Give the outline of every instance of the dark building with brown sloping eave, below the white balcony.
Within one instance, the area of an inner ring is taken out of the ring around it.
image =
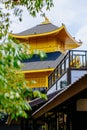
[[[33,130],[87,129],[87,74],[57,92],[37,109],[32,118]],[[42,124],[40,124],[42,122]],[[36,129],[37,128],[37,129]]]

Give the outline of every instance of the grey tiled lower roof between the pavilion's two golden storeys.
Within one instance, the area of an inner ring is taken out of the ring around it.
[[[55,52],[52,54],[53,56],[54,55],[56,56]],[[55,68],[65,55],[61,54],[60,56],[58,55],[56,58],[54,56],[54,59],[53,56],[48,57],[49,60],[25,62],[22,70],[39,70],[39,69]]]

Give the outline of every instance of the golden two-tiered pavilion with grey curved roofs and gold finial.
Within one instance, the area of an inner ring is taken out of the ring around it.
[[[31,59],[24,61],[23,73],[26,79],[36,82],[29,86],[39,90],[48,88],[48,76],[61,59],[59,56],[81,45],[69,34],[64,24],[57,27],[47,17],[41,24],[17,34],[10,34],[10,36],[21,43],[29,44],[31,50],[38,49],[47,54],[47,58],[43,60],[34,55]]]

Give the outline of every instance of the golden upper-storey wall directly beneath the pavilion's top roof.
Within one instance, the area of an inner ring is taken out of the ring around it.
[[[61,51],[64,52],[65,45],[63,42],[60,42],[57,37],[38,37],[38,38],[30,38],[30,39],[23,39],[23,43],[29,44],[31,50],[41,50],[44,52],[54,52],[54,51]]]

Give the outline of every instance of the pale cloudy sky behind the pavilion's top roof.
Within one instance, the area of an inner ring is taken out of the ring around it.
[[[64,23],[68,32],[83,42],[81,48],[87,49],[87,0],[54,0],[54,7],[45,13],[54,25],[60,27]],[[24,10],[22,22],[14,20],[11,29],[14,33],[21,32],[43,21],[40,15],[33,18]]]

